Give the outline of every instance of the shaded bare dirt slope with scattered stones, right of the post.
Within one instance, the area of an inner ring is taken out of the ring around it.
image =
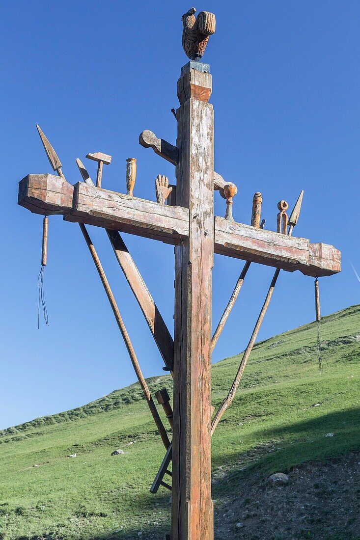
[[[360,539],[360,453],[278,472],[287,484],[258,478],[216,502],[217,540]]]

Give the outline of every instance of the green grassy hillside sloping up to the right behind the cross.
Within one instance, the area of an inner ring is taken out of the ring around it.
[[[316,323],[255,346],[212,440],[216,516],[229,497],[271,473],[360,449],[360,306],[324,318],[320,332],[321,376]],[[238,362],[234,356],[213,367],[215,407]],[[149,386],[170,392],[170,376]],[[111,456],[117,448],[125,454]],[[149,493],[163,455],[136,384],[0,431],[0,538],[163,538],[169,492]]]

